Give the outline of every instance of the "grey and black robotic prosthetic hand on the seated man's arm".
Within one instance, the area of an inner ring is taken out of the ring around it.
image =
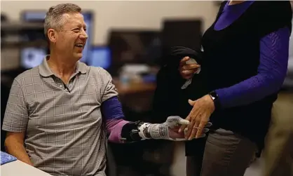
[[[178,133],[180,126],[188,125],[189,121],[182,119],[179,116],[169,116],[164,123],[144,123],[142,121],[126,123],[121,131],[121,140],[125,142],[135,142],[139,140],[174,140],[183,141],[184,134]],[[203,135],[207,133],[207,127],[212,123],[207,123],[206,128],[203,130]],[[187,132],[187,128],[184,133]]]

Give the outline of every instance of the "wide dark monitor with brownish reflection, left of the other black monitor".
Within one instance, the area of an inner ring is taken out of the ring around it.
[[[161,57],[161,32],[157,30],[114,29],[109,34],[111,74],[125,64],[157,65]]]

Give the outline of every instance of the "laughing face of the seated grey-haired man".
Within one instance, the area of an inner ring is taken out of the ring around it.
[[[66,22],[62,29],[56,32],[56,50],[58,53],[66,55],[65,57],[72,57],[76,61],[80,60],[88,39],[86,22],[84,22],[81,13],[66,13],[63,18]]]

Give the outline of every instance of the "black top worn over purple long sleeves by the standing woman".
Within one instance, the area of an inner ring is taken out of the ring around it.
[[[222,8],[217,15],[217,22]],[[255,1],[229,27],[214,30],[215,22],[203,35],[203,65],[200,79],[203,94],[233,86],[257,74],[259,42],[262,37],[282,27],[291,29],[292,11],[289,1]],[[196,86],[196,83],[194,83]],[[198,84],[197,84],[198,85]],[[271,108],[278,93],[251,104],[220,109],[210,117],[214,128],[232,130],[264,146],[271,120]],[[192,154],[197,142],[186,142],[186,153]]]

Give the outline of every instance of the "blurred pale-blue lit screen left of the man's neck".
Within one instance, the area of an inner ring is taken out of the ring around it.
[[[23,69],[31,69],[40,65],[46,53],[46,48],[22,48],[20,51],[20,67]]]

